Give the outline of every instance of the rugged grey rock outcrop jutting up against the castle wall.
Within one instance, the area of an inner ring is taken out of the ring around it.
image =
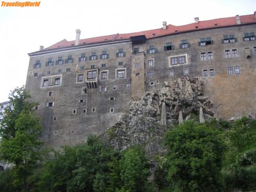
[[[166,81],[160,91],[146,91],[139,101],[130,101],[120,120],[101,137],[118,150],[141,144],[149,156],[163,154],[164,132],[178,124],[178,118],[199,120],[200,107],[206,120],[214,115],[213,103],[203,93],[200,78]]]

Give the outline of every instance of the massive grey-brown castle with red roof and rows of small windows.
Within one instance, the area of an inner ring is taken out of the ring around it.
[[[76,144],[115,124],[164,81],[202,77],[217,118],[256,115],[256,12],[76,40],[29,53],[26,89],[46,145]]]

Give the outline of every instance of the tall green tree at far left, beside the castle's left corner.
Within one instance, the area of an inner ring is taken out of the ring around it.
[[[30,96],[25,87],[16,88],[9,95],[10,103],[5,110],[5,116],[0,128],[0,159],[13,163],[14,185],[27,191],[27,178],[32,174],[32,168],[40,160],[38,148],[42,142],[41,124],[29,102]]]

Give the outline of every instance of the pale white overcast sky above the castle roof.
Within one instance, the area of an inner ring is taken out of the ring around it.
[[[254,11],[255,0],[41,0],[39,7],[0,7],[0,102],[26,83],[27,53],[64,38],[75,40],[76,29],[82,39],[157,29],[163,21],[179,26],[195,22],[194,17],[208,20]]]

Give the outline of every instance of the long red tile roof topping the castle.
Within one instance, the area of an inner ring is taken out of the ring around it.
[[[256,23],[254,14],[242,15],[240,16],[240,20],[241,20],[241,24]],[[226,27],[226,26],[234,26],[234,25],[237,25],[236,16],[226,17],[226,18],[217,18],[212,20],[202,20],[202,21],[199,21],[198,23],[192,23],[192,24],[183,25],[183,26],[167,25],[166,29],[160,28],[160,29],[153,29],[153,30],[135,32],[135,33],[113,34],[113,35],[105,35],[100,37],[92,37],[87,39],[80,39],[79,45],[93,44],[96,42],[110,41],[110,40],[129,39],[131,36],[137,36],[137,35],[145,35],[146,38],[148,39],[153,37],[170,35],[174,33],[186,32],[186,31],[196,31],[196,30],[202,30],[202,29],[210,29],[210,28]],[[75,44],[75,40],[67,41],[66,39],[63,39],[46,49],[69,47],[69,46],[73,46],[74,44]]]

